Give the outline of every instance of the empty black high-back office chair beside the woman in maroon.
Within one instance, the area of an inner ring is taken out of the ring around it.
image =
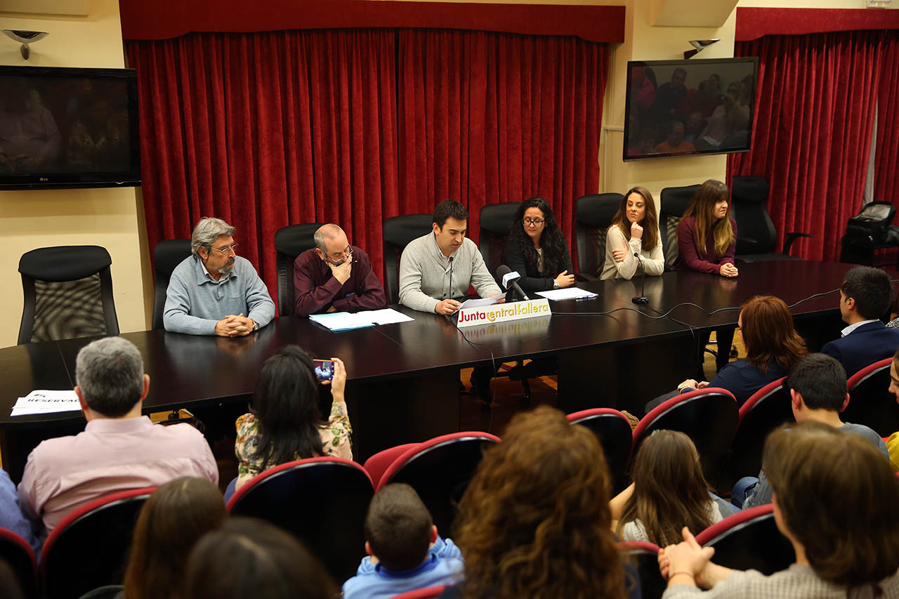
[[[788,233],[784,237],[783,252],[774,252],[778,232],[771,222],[765,203],[770,187],[764,177],[736,176],[731,183],[731,214],[736,221],[735,258],[743,264],[769,260],[802,260],[789,255],[790,246],[799,237],[814,237],[810,233]]]

